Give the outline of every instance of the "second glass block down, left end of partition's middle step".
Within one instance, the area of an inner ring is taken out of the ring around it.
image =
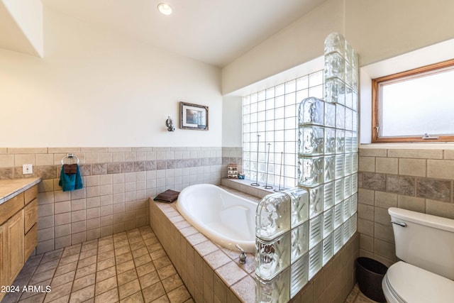
[[[300,155],[321,155],[324,150],[324,131],[320,126],[299,127],[299,150]]]

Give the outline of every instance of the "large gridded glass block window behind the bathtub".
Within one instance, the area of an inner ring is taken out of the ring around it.
[[[323,70],[243,97],[247,179],[275,188],[297,186],[298,107],[307,97],[323,99]]]

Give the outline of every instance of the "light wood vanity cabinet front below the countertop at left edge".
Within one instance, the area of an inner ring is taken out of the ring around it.
[[[38,185],[34,185],[0,204],[0,285],[12,285],[37,243]]]

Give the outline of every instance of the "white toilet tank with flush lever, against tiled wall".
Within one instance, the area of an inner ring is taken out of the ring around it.
[[[454,280],[454,220],[396,207],[388,213],[397,258]]]

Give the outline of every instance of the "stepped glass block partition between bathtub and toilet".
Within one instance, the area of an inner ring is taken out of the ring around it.
[[[258,205],[258,302],[289,301],[357,228],[358,55],[338,33],[324,50],[325,99],[299,104],[298,187]]]

